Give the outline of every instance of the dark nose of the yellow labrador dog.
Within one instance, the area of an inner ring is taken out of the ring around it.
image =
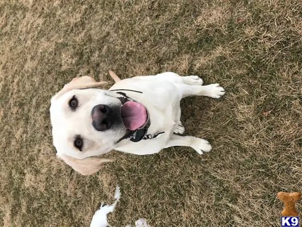
[[[92,125],[97,131],[106,131],[110,129],[112,125],[112,119],[110,118],[112,110],[108,105],[96,105],[92,108],[91,117]]]

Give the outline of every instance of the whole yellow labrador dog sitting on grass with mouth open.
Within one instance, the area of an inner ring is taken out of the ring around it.
[[[219,84],[203,86],[198,76],[172,72],[106,82],[84,76],[74,78],[51,99],[50,118],[57,156],[82,175],[99,171],[97,157],[111,150],[145,155],[163,148],[189,146],[199,154],[212,149],[208,141],[180,136],[180,100],[191,95],[220,98]]]

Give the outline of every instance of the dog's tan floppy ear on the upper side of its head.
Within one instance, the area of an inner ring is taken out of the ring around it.
[[[70,91],[72,89],[86,89],[86,88],[100,87],[100,86],[103,86],[106,84],[107,84],[107,82],[105,82],[105,81],[96,82],[90,76],[76,77],[76,78],[73,78],[68,84],[66,84],[62,88],[62,90],[60,90],[58,93],[56,93],[52,97],[52,99],[57,99],[62,94],[66,93],[67,91]]]

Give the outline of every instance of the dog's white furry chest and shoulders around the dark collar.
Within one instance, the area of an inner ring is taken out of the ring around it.
[[[127,96],[142,103],[148,110],[151,124],[146,134],[152,137],[160,133],[155,138],[139,142],[124,141],[116,150],[144,155],[157,153],[164,148],[180,121],[180,96],[174,84],[163,81],[161,83],[148,81],[146,84],[143,81],[143,83],[127,84],[126,88],[114,86],[111,89],[131,89],[141,92],[123,91]]]

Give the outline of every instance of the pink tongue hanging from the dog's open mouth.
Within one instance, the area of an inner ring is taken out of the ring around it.
[[[131,131],[140,128],[147,121],[147,110],[138,102],[125,102],[121,107],[121,115],[125,127]]]

